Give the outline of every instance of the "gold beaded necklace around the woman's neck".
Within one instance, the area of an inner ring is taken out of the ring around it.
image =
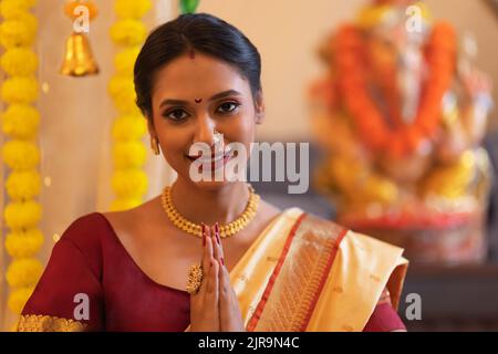
[[[258,210],[259,205],[259,195],[255,192],[255,189],[251,185],[248,185],[248,188],[249,201],[246,205],[246,209],[236,220],[227,225],[219,226],[219,236],[221,238],[227,238],[239,232],[256,216],[256,211]],[[173,225],[175,225],[178,229],[197,237],[203,237],[203,227],[198,223],[187,220],[176,209],[172,199],[172,187],[168,186],[164,188],[160,196],[160,204],[163,205],[163,209],[166,212],[168,219],[172,220]]]

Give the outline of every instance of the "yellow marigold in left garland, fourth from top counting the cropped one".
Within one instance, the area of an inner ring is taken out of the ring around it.
[[[34,77],[10,77],[3,82],[1,94],[9,104],[30,104],[38,100],[39,84]]]

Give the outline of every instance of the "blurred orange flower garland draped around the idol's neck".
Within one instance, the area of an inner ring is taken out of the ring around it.
[[[402,158],[434,136],[440,123],[440,103],[455,72],[456,42],[452,25],[434,27],[426,44],[429,72],[418,113],[412,124],[394,128],[386,124],[367,92],[362,33],[353,25],[339,31],[335,42],[339,88],[356,132],[369,148]]]

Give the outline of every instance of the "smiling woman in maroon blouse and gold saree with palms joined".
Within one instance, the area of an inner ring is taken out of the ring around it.
[[[134,75],[153,150],[178,178],[134,209],[74,221],[19,331],[404,330],[401,249],[279,210],[243,181],[191,178],[193,145],[209,147],[209,171],[262,123],[260,56],[239,30],[180,15],[148,37]]]

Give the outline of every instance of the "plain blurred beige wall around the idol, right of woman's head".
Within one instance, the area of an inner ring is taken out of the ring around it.
[[[203,0],[198,11],[214,13],[240,28],[262,55],[267,121],[262,139],[309,139],[303,93],[322,67],[317,46],[344,21],[354,20],[365,0]],[[474,33],[479,67],[498,83],[498,17],[486,1],[427,0],[435,19]],[[495,101],[498,91],[495,91]],[[495,126],[498,127],[497,119]],[[284,128],[283,128],[284,127]]]

